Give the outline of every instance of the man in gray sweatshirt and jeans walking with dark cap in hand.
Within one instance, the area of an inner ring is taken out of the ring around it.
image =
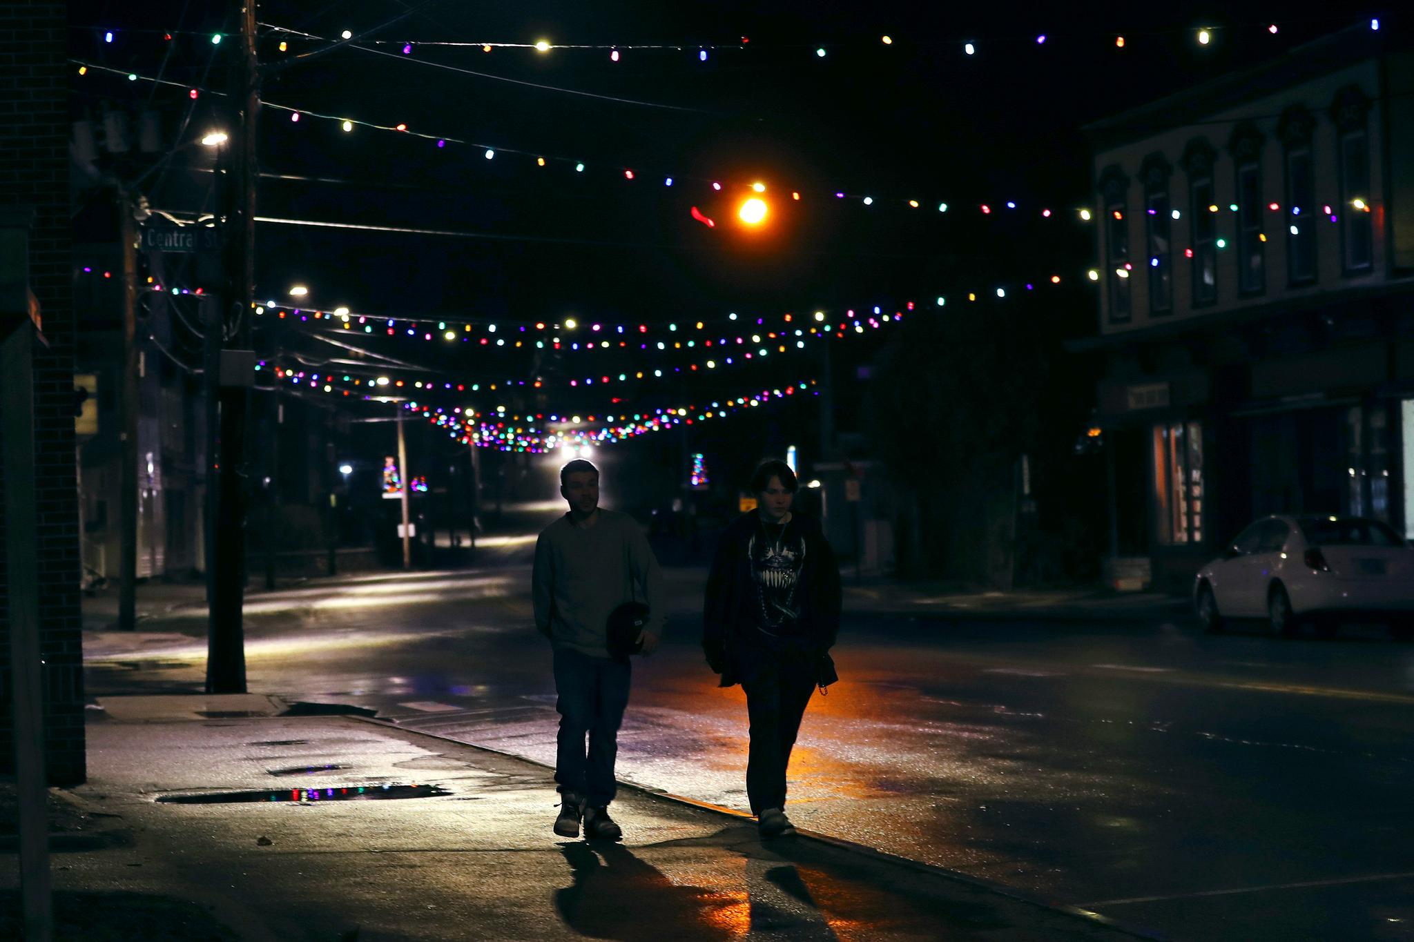
[[[632,667],[626,655],[611,654],[608,620],[625,602],[645,603],[649,616],[636,641],[650,654],[665,620],[663,578],[633,518],[600,507],[594,465],[573,460],[560,469],[560,494],[570,510],[540,534],[532,576],[534,624],[554,651],[560,712],[554,833],[577,837],[583,821],[585,837],[618,840],[624,832],[608,805]]]

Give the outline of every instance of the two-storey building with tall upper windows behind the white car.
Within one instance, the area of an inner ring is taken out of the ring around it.
[[[1251,518],[1414,537],[1414,52],[1360,27],[1106,119],[1109,571],[1176,589]]]

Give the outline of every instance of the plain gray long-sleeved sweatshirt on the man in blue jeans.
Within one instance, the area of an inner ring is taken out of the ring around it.
[[[530,592],[534,627],[556,647],[608,657],[609,612],[635,597],[648,603],[648,630],[663,633],[663,573],[628,514],[601,507],[592,527],[575,527],[570,514],[546,527],[534,545]]]

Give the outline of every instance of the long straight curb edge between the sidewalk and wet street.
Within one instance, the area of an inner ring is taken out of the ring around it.
[[[467,743],[467,741],[462,741],[460,739],[451,739],[450,736],[440,736],[437,733],[427,733],[427,732],[417,730],[417,729],[407,729],[404,726],[399,726],[397,723],[395,723],[392,720],[378,719],[378,717],[373,717],[373,716],[349,716],[348,719],[355,719],[355,720],[359,720],[359,722],[363,722],[363,723],[372,723],[373,726],[382,726],[385,729],[395,729],[395,730],[397,730],[397,732],[400,732],[403,734],[426,736],[427,739],[436,739],[436,740],[440,740],[443,743],[452,743],[455,746],[462,746],[462,747],[467,747],[467,749],[475,749],[475,750],[482,751],[482,753],[491,753],[492,756],[501,756],[503,758],[510,758],[510,760],[522,761],[522,763],[526,763],[529,765],[534,765],[537,768],[544,768],[544,770],[551,771],[551,773],[554,771],[553,765],[547,765],[544,763],[539,763],[539,761],[536,761],[533,758],[526,758],[525,756],[518,756],[516,753],[508,753],[508,751],[503,751],[503,750],[499,750],[499,749],[491,749],[488,746],[478,746],[477,743]],[[732,808],[723,808],[721,805],[713,805],[711,802],[697,801],[696,798],[686,798],[683,795],[674,795],[672,792],[666,792],[666,791],[662,791],[659,788],[653,788],[650,785],[639,785],[638,782],[631,782],[631,781],[624,781],[624,780],[619,780],[618,785],[619,785],[619,788],[628,788],[631,791],[639,792],[641,795],[648,795],[650,798],[666,799],[666,801],[670,801],[670,802],[676,802],[679,805],[687,805],[690,808],[697,808],[699,811],[714,812],[717,815],[723,815],[725,818],[732,818],[735,821],[754,821],[754,818],[749,813],[744,812],[744,811],[735,811]],[[1171,942],[1169,936],[1167,936],[1167,935],[1162,935],[1162,934],[1158,934],[1158,932],[1154,932],[1154,931],[1150,931],[1150,929],[1141,929],[1138,926],[1126,925],[1123,922],[1117,922],[1116,919],[1111,919],[1110,917],[1100,915],[1099,912],[1090,912],[1089,910],[1082,910],[1079,907],[1072,907],[1072,905],[1068,905],[1068,904],[1063,904],[1063,902],[1051,902],[1049,900],[1044,900],[1041,897],[1032,895],[1029,893],[1025,893],[1024,890],[1017,890],[1014,887],[1008,887],[1008,886],[1001,884],[1001,883],[993,883],[991,880],[983,880],[980,877],[971,877],[971,876],[967,876],[966,873],[959,873],[956,870],[949,870],[947,867],[939,867],[936,864],[922,863],[922,861],[918,861],[918,860],[911,860],[908,857],[899,857],[898,854],[885,853],[882,850],[877,850],[877,849],[865,846],[865,845],[854,843],[853,840],[844,840],[841,837],[831,837],[830,835],[822,835],[822,833],[817,833],[817,832],[813,832],[813,830],[800,830],[799,832],[799,837],[803,837],[805,840],[813,840],[816,843],[822,843],[822,845],[826,845],[829,847],[834,847],[837,850],[844,850],[844,852],[848,852],[848,853],[864,856],[864,857],[868,857],[871,860],[878,860],[878,861],[884,861],[884,863],[891,863],[891,864],[895,864],[895,866],[901,866],[901,867],[905,867],[908,870],[913,870],[916,873],[925,873],[925,874],[929,874],[929,876],[933,876],[933,877],[939,877],[939,878],[947,880],[950,883],[957,883],[957,884],[962,884],[962,886],[966,886],[966,887],[971,887],[974,890],[983,890],[986,893],[994,893],[997,895],[1007,897],[1010,900],[1015,900],[1017,902],[1024,902],[1027,905],[1032,905],[1032,907],[1036,907],[1039,910],[1046,910],[1049,912],[1056,912],[1056,914],[1060,914],[1060,915],[1066,915],[1066,917],[1070,917],[1073,919],[1079,919],[1082,922],[1087,922],[1090,925],[1102,925],[1102,926],[1104,926],[1107,929],[1114,929],[1116,932],[1123,932],[1123,934],[1130,935],[1130,936],[1133,936],[1135,939],[1148,939],[1150,942]]]

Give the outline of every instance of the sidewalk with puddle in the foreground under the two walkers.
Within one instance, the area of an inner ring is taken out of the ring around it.
[[[71,925],[119,907],[137,932],[102,938],[1151,938],[830,839],[762,845],[749,819],[636,787],[614,805],[622,845],[566,840],[544,767],[378,720],[283,717],[259,695],[99,706],[89,782],[64,794],[113,816],[51,861]],[[253,794],[182,804],[238,791]],[[0,887],[16,886],[11,854]]]

